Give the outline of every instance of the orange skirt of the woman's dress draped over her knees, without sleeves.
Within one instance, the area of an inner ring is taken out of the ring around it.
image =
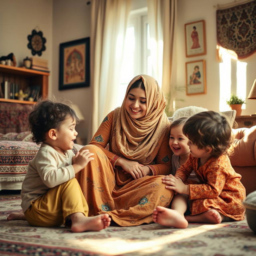
[[[87,145],[84,149],[94,153],[94,160],[78,172],[76,178],[88,203],[89,216],[107,211],[120,226],[138,226],[152,222],[156,206],[170,205],[174,192],[165,188],[163,175],[134,180],[119,166],[113,169],[98,146]],[[162,174],[168,174],[168,169]]]

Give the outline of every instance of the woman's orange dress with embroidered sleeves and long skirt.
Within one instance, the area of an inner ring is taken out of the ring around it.
[[[115,166],[122,154],[109,151],[115,135],[111,132],[113,115],[114,111],[106,116],[90,144],[84,146],[94,153],[94,160],[76,174],[89,206],[89,216],[107,212],[120,226],[150,223],[156,206],[168,207],[174,194],[162,183],[163,175],[170,174],[171,169],[170,129],[162,134],[161,143],[155,142],[156,158],[148,156],[142,163],[152,170],[153,176],[134,180],[120,166]]]

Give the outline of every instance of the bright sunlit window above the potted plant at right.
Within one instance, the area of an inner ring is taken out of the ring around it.
[[[220,111],[230,110],[226,100],[234,93],[239,98],[246,99],[246,62],[240,62],[236,53],[219,47],[220,63]],[[245,109],[245,104],[242,109]]]

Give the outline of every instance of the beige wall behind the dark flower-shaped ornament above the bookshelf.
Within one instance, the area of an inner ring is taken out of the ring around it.
[[[46,38],[41,57],[52,70],[52,0],[0,0],[0,56],[13,52],[21,66],[26,56],[32,57],[27,36],[33,29],[41,30]]]

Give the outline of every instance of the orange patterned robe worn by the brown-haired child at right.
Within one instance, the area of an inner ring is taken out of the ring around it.
[[[198,162],[199,158],[190,154],[175,175],[184,182],[194,170],[200,180],[200,184],[188,185],[191,215],[214,208],[224,216],[243,220],[245,208],[242,201],[246,197],[246,191],[240,182],[241,175],[234,171],[228,156],[211,157],[200,167]]]

